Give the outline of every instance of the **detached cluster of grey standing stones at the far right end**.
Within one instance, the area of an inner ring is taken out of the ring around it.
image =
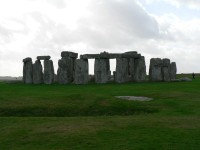
[[[176,78],[176,63],[165,58],[152,58],[149,67],[150,81],[170,81]]]

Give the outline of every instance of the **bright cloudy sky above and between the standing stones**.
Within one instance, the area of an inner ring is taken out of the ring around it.
[[[200,72],[198,0],[0,0],[0,76],[21,76],[25,57],[138,51]],[[115,61],[111,61],[114,70]],[[90,61],[90,73],[93,65]]]

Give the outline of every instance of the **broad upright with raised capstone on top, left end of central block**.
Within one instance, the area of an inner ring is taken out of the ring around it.
[[[74,81],[75,77],[75,61],[78,57],[77,53],[63,51],[61,59],[58,61],[57,80],[60,84],[67,84]]]

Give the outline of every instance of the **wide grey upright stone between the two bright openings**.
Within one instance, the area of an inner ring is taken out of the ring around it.
[[[94,75],[96,83],[107,83],[110,77],[109,59],[95,59]]]

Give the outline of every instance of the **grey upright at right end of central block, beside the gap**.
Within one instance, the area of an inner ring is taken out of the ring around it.
[[[145,81],[146,78],[146,65],[144,56],[135,59],[134,62],[134,81]]]

